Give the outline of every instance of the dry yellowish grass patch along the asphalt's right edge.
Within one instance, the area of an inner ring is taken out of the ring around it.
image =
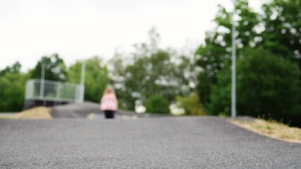
[[[275,120],[254,119],[229,120],[230,123],[243,127],[247,130],[263,134],[273,139],[281,139],[286,142],[301,143],[301,129],[297,127],[289,127]]]

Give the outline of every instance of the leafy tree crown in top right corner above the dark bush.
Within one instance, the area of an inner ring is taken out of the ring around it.
[[[301,70],[301,0],[273,0],[262,8],[263,48],[297,63]]]

